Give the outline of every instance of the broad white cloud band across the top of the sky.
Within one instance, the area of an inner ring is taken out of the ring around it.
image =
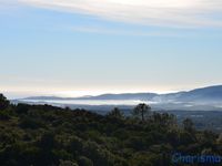
[[[18,0],[101,19],[168,27],[221,27],[222,0]]]

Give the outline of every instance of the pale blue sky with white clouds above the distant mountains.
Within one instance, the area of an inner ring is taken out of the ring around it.
[[[0,0],[0,93],[168,93],[222,84],[221,0]]]

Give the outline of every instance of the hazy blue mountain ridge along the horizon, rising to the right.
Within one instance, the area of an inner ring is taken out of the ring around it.
[[[54,100],[140,100],[160,103],[169,102],[222,102],[222,85],[195,89],[188,92],[157,93],[122,93],[102,94],[82,97],[31,96],[22,100],[54,101]]]

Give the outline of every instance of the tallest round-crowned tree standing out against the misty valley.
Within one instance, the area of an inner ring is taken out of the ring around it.
[[[141,116],[142,122],[144,122],[145,116],[150,115],[150,113],[151,113],[151,107],[145,103],[137,105],[132,112],[134,116]]]

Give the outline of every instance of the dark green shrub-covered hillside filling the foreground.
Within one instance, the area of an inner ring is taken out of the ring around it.
[[[175,116],[143,104],[124,117],[118,108],[10,105],[0,95],[0,166],[171,166],[175,152],[222,155],[222,136],[190,120],[179,127]]]

